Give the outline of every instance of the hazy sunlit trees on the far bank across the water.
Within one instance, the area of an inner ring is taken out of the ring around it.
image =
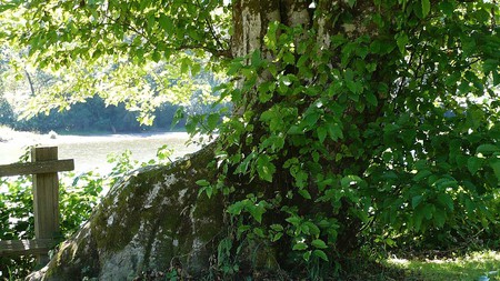
[[[210,111],[210,102],[217,97],[217,91],[212,88],[224,79],[213,72],[200,72],[190,78],[191,86],[179,86],[178,78],[166,76],[172,67],[158,63],[153,68],[141,69],[143,77],[136,78],[136,81],[127,80],[132,73],[123,73],[124,70],[119,66],[108,68],[120,69],[116,71],[120,72],[122,81],[117,78],[112,82],[99,80],[111,74],[109,69],[86,73],[88,77],[82,79],[84,81],[74,81],[71,77],[81,73],[61,76],[37,69],[28,60],[17,57],[14,49],[7,44],[2,48],[1,59],[0,124],[42,133],[51,130],[59,133],[171,130],[174,114],[181,107],[189,114]],[[104,73],[106,71],[108,72]],[[88,84],[89,82],[93,86]],[[123,87],[121,83],[130,87],[134,83],[142,84],[141,88],[146,89],[149,98],[142,97],[140,102],[129,99],[128,93],[121,91],[133,91],[136,94],[138,89],[120,90]],[[113,91],[120,93],[112,94]],[[160,98],[162,91],[168,91],[169,97]],[[71,96],[74,97],[70,98]],[[177,128],[182,128],[186,120],[178,121],[181,123]]]

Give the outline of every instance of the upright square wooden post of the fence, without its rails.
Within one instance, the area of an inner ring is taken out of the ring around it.
[[[58,148],[32,148],[31,161],[58,160]],[[59,232],[58,172],[33,174],[34,237],[53,239]],[[38,254],[38,263],[49,262],[48,254]]]

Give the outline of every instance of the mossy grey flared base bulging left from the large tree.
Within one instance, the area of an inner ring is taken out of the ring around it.
[[[131,280],[179,265],[202,275],[217,252],[222,200],[198,198],[213,147],[168,167],[137,170],[118,182],[91,219],[28,280]]]

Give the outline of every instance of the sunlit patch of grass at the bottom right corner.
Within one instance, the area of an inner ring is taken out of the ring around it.
[[[490,281],[500,281],[500,252],[496,251],[472,252],[466,257],[432,260],[391,258],[387,260],[387,263],[389,267],[417,273],[423,280],[472,281],[487,275]]]

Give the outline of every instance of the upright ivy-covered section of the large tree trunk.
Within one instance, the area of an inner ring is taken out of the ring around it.
[[[360,131],[383,114],[387,97],[373,89],[394,79],[376,72],[389,53],[369,56],[371,40],[393,37],[367,24],[373,10],[371,1],[234,3],[231,47],[242,59],[223,93],[237,110],[221,126],[214,188],[229,194],[236,237],[281,243],[306,261],[358,247],[368,223],[359,210],[371,204],[359,192],[370,164]]]

